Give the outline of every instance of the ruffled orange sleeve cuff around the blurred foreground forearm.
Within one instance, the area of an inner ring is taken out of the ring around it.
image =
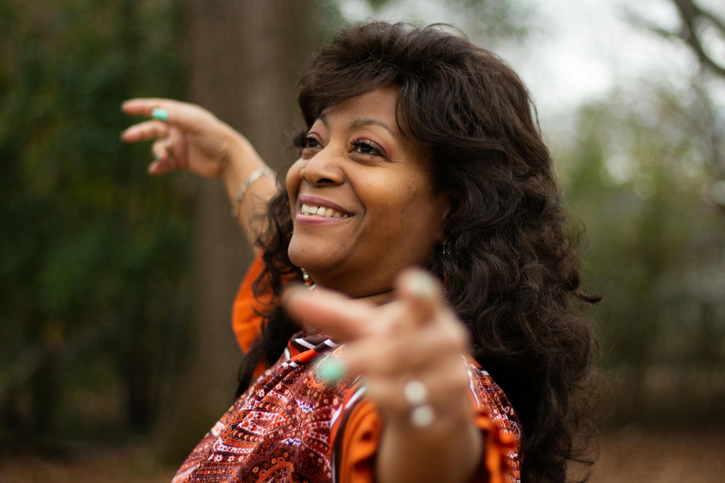
[[[484,453],[472,483],[510,482],[510,463],[505,453],[515,450],[512,434],[502,431],[484,410],[473,417],[481,429]],[[343,434],[342,452],[339,464],[340,483],[374,483],[375,455],[378,451],[383,421],[368,398],[360,401],[349,416]]]

